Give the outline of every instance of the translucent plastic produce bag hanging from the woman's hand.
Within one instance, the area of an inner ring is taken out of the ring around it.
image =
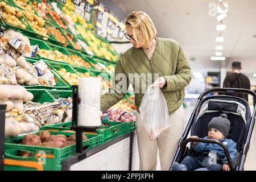
[[[159,87],[147,88],[139,111],[150,140],[158,138],[170,126],[166,99]]]

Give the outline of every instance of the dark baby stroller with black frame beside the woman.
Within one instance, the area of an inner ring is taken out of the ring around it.
[[[207,90],[199,96],[199,100],[189,118],[188,125],[180,139],[176,154],[174,156],[174,162],[180,163],[185,156],[198,156],[199,153],[194,151],[191,147],[187,146],[189,142],[203,142],[203,143],[215,143],[220,145],[224,151],[231,170],[242,171],[245,164],[247,152],[250,147],[251,134],[253,133],[253,127],[255,122],[255,106],[253,115],[251,116],[250,106],[247,101],[242,98],[233,96],[207,96],[209,93],[246,93],[251,94],[256,100],[256,94],[247,89],[234,89],[234,88],[216,88]],[[203,139],[207,136],[207,126],[213,117],[219,116],[221,113],[228,115],[230,121],[230,131],[227,138],[233,139],[237,143],[237,154],[232,163],[229,155],[229,151],[224,143],[219,140]],[[196,135],[199,138],[188,138],[189,131],[191,136]],[[171,167],[170,167],[171,170]]]

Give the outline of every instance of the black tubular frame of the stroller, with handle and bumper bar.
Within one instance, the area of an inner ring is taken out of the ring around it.
[[[225,94],[245,93],[245,94],[250,94],[251,96],[253,96],[254,100],[256,100],[256,94],[253,91],[248,90],[248,89],[215,88],[215,89],[206,90],[205,92],[201,93],[197,100],[195,109],[193,110],[193,113],[191,114],[191,117],[189,118],[187,127],[185,128],[185,131],[184,131],[182,137],[180,138],[180,141],[179,141],[179,144],[178,144],[178,147],[176,150],[176,154],[174,156],[174,159],[172,160],[172,163],[181,162],[181,160],[185,157],[185,153],[187,152],[187,149],[188,149],[188,147],[186,147],[186,145],[189,142],[215,143],[215,144],[220,145],[224,149],[224,152],[225,152],[226,158],[228,159],[228,163],[229,163],[231,170],[233,170],[233,171],[234,170],[236,170],[236,171],[243,170],[246,155],[247,155],[247,152],[249,151],[250,139],[251,139],[251,135],[253,133],[253,127],[254,127],[254,123],[255,123],[255,113],[256,113],[255,105],[254,105],[253,114],[251,115],[251,121],[249,122],[250,125],[247,126],[248,128],[246,130],[246,132],[247,132],[246,138],[243,139],[245,142],[243,142],[243,144],[241,146],[241,154],[240,154],[239,158],[237,159],[238,160],[237,166],[234,166],[234,164],[232,163],[232,161],[230,159],[230,154],[229,154],[228,148],[220,140],[203,139],[203,138],[195,138],[195,139],[188,138],[187,139],[189,131],[191,131],[193,123],[196,121],[197,114],[199,113],[199,107],[202,104],[204,96],[207,96],[207,94],[209,94],[209,93],[216,93],[216,92],[217,93],[225,93]],[[226,96],[226,97],[231,97],[231,96]],[[234,98],[236,98],[236,97],[234,97]],[[170,167],[170,170],[171,170],[171,167]]]

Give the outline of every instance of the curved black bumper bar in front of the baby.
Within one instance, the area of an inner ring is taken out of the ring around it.
[[[184,142],[181,145],[181,151],[180,151],[180,156],[179,156],[179,160],[178,160],[179,162],[181,161],[181,159],[184,155],[184,152],[185,152],[186,145],[189,142],[202,142],[202,143],[218,144],[219,146],[221,146],[223,148],[223,150],[225,152],[225,155],[226,155],[226,159],[228,160],[229,166],[234,171],[234,166],[233,166],[232,161],[230,159],[230,154],[229,154],[228,148],[225,146],[224,143],[222,143],[220,140],[216,140],[216,139],[188,138],[188,139],[184,140]]]

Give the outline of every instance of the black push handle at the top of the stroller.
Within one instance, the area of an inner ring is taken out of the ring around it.
[[[205,90],[205,92],[201,93],[199,96],[199,99],[203,99],[204,96],[206,96],[209,93],[214,93],[214,92],[222,92],[222,93],[246,93],[250,94],[251,96],[254,97],[254,100],[256,100],[256,94],[249,90],[249,89],[237,89],[237,88],[215,88],[215,89],[209,89]]]

